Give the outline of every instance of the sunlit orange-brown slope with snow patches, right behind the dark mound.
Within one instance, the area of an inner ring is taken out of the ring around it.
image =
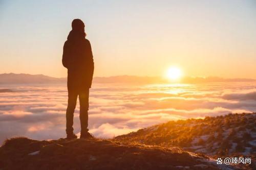
[[[251,158],[251,164],[237,167],[256,169],[256,113],[227,114],[170,121],[140,129],[114,140],[123,143],[159,145],[217,158]]]

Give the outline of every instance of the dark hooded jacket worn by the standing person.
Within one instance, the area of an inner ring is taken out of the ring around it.
[[[63,46],[62,64],[68,69],[68,90],[91,88],[94,61],[85,33],[72,30]]]

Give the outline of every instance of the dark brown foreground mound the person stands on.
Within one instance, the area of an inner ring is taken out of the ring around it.
[[[234,169],[204,155],[101,139],[5,141],[1,169]]]

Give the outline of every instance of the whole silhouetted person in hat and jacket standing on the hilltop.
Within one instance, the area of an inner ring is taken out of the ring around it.
[[[92,137],[88,132],[88,109],[89,88],[92,85],[94,62],[91,44],[86,39],[84,23],[80,19],[72,21],[72,30],[63,46],[62,64],[68,68],[67,138],[77,138],[73,133],[73,118],[77,96],[79,96],[80,102],[80,138]]]

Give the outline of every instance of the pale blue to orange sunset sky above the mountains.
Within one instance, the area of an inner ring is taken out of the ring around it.
[[[0,74],[66,77],[62,47],[85,22],[94,76],[256,79],[256,1],[3,1]]]

